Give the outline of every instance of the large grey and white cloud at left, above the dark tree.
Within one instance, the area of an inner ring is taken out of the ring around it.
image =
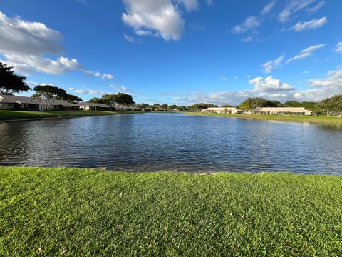
[[[47,74],[65,74],[80,69],[77,59],[46,58],[44,54],[60,54],[62,35],[39,22],[24,21],[20,17],[9,18],[0,12],[0,53],[4,62],[15,71],[30,74],[33,71]]]

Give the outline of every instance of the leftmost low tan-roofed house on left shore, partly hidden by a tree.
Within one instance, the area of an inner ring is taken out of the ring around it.
[[[71,104],[62,100],[53,100],[52,105],[53,109],[78,109],[76,104]],[[39,111],[44,110],[45,108],[45,105],[38,99],[32,99],[27,96],[0,95],[0,109]]]

